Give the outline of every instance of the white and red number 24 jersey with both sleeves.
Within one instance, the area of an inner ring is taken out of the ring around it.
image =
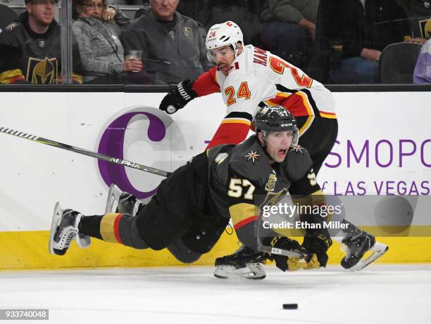
[[[294,65],[252,45],[230,66],[227,77],[217,67],[193,83],[198,96],[221,92],[227,112],[207,148],[237,144],[246,138],[259,103],[282,105],[294,117],[308,117],[303,134],[316,117],[337,118],[332,93]]]

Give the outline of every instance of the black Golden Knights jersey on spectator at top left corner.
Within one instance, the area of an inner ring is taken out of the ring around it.
[[[55,20],[37,34],[25,12],[0,33],[0,84],[56,84],[60,77],[61,29]]]

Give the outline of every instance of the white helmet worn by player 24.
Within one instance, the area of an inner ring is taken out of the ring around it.
[[[211,26],[206,34],[205,46],[208,50],[208,54],[211,49],[223,47],[226,45],[232,46],[235,51],[235,58],[238,55],[238,42],[244,45],[244,36],[241,28],[233,21],[223,22],[221,24],[215,24]],[[208,55],[211,58],[211,54]]]

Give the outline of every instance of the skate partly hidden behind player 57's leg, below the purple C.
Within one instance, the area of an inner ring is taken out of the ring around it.
[[[142,202],[139,202],[134,195],[120,190],[114,183],[109,186],[105,214],[118,213],[135,216],[140,205],[143,205]]]

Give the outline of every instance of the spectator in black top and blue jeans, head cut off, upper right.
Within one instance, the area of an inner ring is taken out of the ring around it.
[[[371,48],[360,0],[320,0],[316,30],[318,51],[331,53],[330,83],[379,82],[381,52]]]

